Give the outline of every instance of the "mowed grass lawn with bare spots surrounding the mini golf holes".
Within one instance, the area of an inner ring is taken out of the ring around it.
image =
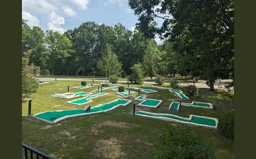
[[[56,86],[56,84],[59,84],[59,86]],[[142,85],[130,86],[141,87]],[[110,95],[93,99],[92,103],[77,106],[66,102],[81,97],[71,99],[51,97],[54,92],[67,92],[67,86],[70,86],[69,92],[90,92],[98,88],[98,86],[82,90],[72,88],[80,86],[78,81],[57,81],[43,84],[36,93],[31,95],[31,98],[34,98],[31,114],[42,111],[96,106],[118,98],[126,98],[116,95],[112,90],[105,90],[103,92],[110,93]],[[168,86],[166,85],[166,87]],[[127,89],[127,87],[125,88]],[[142,88],[150,89],[148,87]],[[151,89],[158,92],[153,94],[140,92],[140,95],[146,95],[152,99],[161,99],[163,103],[158,108],[136,106],[136,111],[169,113],[186,118],[190,114],[219,118],[223,113],[217,110],[189,107],[181,107],[180,112],[170,112],[167,110],[170,103],[178,101],[178,97],[168,90]],[[135,91],[135,93],[131,94],[129,99],[138,96],[137,90],[132,91]],[[97,92],[94,94],[97,94]],[[198,97],[192,97],[192,100],[207,102]],[[168,128],[169,124],[177,125],[177,123],[128,114],[132,110],[133,104],[129,104],[112,111],[68,118],[55,124],[49,124],[27,116],[28,103],[22,103],[22,142],[55,158],[154,158],[154,151],[157,150],[162,128]],[[192,130],[202,134],[203,138],[212,144],[215,158],[234,158],[234,143],[223,138],[217,131],[200,127],[192,127]],[[22,153],[24,154],[24,151]]]

